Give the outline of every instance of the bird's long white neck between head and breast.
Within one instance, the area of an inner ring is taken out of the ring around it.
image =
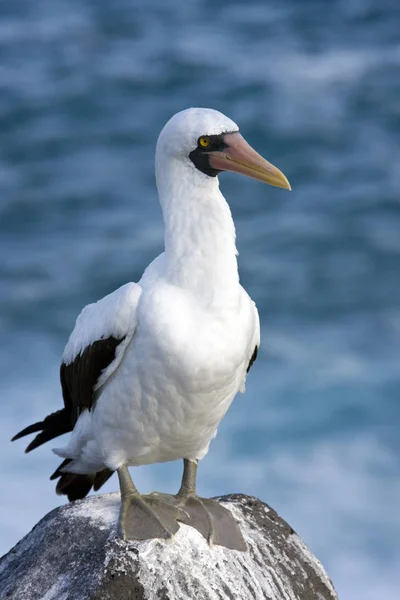
[[[235,303],[239,294],[235,225],[217,177],[190,165],[156,169],[164,215],[167,277],[200,301]]]

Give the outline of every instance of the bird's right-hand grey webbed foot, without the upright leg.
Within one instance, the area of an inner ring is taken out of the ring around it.
[[[246,542],[232,513],[219,504],[216,500],[200,498],[195,494],[170,496],[157,494],[166,502],[183,508],[189,515],[184,521],[186,525],[194,527],[206,538],[209,544],[225,546],[232,550],[247,550]]]

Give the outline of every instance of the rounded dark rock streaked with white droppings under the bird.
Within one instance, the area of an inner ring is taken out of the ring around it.
[[[266,504],[219,498],[247,552],[209,546],[181,525],[172,540],[116,537],[119,494],[56,508],[0,559],[1,600],[333,600],[304,542]]]

